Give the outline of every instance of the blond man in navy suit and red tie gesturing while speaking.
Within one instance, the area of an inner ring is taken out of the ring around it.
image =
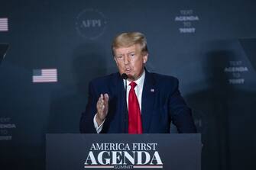
[[[138,32],[119,34],[112,43],[118,72],[89,83],[81,133],[196,133],[178,80],[147,72],[147,41]],[[127,79],[127,80],[125,80]]]

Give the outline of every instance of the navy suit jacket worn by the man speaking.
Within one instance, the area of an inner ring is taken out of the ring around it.
[[[196,133],[190,108],[180,95],[178,80],[172,76],[145,71],[141,98],[143,133],[170,133],[170,122],[179,133]],[[117,72],[89,83],[86,111],[80,119],[81,133],[96,133],[93,124],[100,94],[109,94],[109,113],[101,133],[128,133],[125,85]]]

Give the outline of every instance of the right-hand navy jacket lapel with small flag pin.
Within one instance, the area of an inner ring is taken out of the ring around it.
[[[151,123],[151,117],[154,110],[155,99],[155,81],[150,72],[145,71],[144,87],[141,98],[141,118],[143,133],[148,133],[148,129]]]

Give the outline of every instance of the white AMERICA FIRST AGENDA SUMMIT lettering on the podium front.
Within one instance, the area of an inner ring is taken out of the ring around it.
[[[84,168],[162,169],[157,143],[92,143]]]

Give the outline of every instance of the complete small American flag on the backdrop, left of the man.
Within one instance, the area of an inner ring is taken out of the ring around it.
[[[33,69],[33,82],[57,82],[57,69]]]

